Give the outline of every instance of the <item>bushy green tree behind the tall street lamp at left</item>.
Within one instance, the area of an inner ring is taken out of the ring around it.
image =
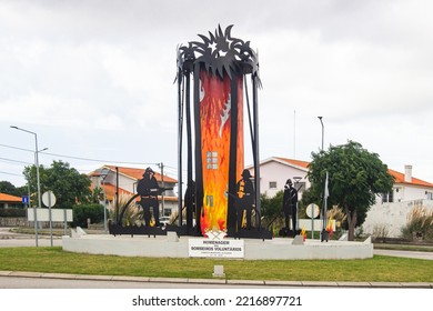
[[[23,174],[31,189],[37,189],[36,167],[26,167]],[[57,202],[54,208],[71,209],[77,202],[88,202],[91,193],[90,180],[85,174],[70,168],[69,163],[53,161],[50,168],[39,167],[41,195],[51,190]],[[32,198],[37,201],[37,198]]]

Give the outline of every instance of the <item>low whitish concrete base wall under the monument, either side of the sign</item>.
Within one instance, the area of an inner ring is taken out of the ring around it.
[[[190,237],[179,239],[165,235],[108,235],[87,234],[62,237],[64,251],[92,254],[113,254],[124,257],[189,258]],[[194,238],[197,239],[197,238]],[[373,258],[373,244],[364,242],[306,240],[293,244],[293,239],[244,240],[246,260],[322,260],[322,259],[367,259]]]

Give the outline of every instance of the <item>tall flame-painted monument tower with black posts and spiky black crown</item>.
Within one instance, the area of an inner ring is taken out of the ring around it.
[[[209,37],[199,34],[202,42],[192,41],[178,49],[179,193],[183,193],[183,120],[185,119],[187,184],[190,187],[192,180],[195,181],[195,191],[190,191],[195,195],[195,204],[192,207],[192,198],[185,202],[190,204],[187,211],[193,210],[187,213],[187,223],[192,223],[189,218],[195,217],[198,235],[207,235],[210,230],[221,230],[226,231],[230,237],[238,231],[235,193],[236,181],[244,169],[244,94],[254,161],[253,197],[256,202],[255,210],[260,213],[259,61],[256,53],[250,48],[250,42],[233,38],[231,29],[232,26],[229,26],[223,31],[219,27],[214,33],[209,32]],[[245,78],[248,74],[251,76],[252,108]],[[191,87],[191,78],[193,87]],[[182,202],[179,202],[179,224],[181,224]],[[260,225],[256,229],[260,231]],[[268,233],[263,230],[256,235],[263,238],[263,234]],[[269,235],[272,238],[272,234]]]

